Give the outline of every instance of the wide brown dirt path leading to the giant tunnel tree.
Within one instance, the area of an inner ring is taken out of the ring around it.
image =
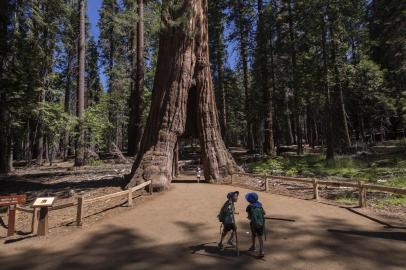
[[[242,195],[248,190],[238,189]],[[0,246],[1,269],[405,269],[406,231],[346,209],[260,193],[266,257],[249,247],[246,202],[237,203],[242,254],[218,252],[216,215],[229,186],[176,183],[166,193],[72,233]],[[286,221],[283,219],[291,219]]]

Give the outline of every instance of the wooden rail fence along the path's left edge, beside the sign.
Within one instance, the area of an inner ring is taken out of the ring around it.
[[[91,198],[91,199],[85,199],[84,197],[77,197],[76,202],[70,202],[70,203],[65,203],[61,205],[56,205],[53,207],[49,208],[49,211],[55,211],[55,210],[60,210],[60,209],[65,209],[68,207],[74,207],[77,206],[77,212],[76,212],[76,225],[81,226],[83,224],[83,218],[85,214],[85,206],[91,203],[99,202],[99,201],[105,201],[108,199],[112,198],[118,198],[122,196],[127,196],[127,205],[131,207],[133,205],[133,193],[135,191],[141,190],[145,188],[146,186],[149,186],[149,193],[152,194],[152,182],[147,181],[144,182],[136,187],[129,188],[127,190],[115,192],[112,194],[107,194],[103,195],[100,197],[96,198]],[[17,210],[25,213],[32,214],[32,221],[31,221],[31,232],[33,234],[37,233],[37,228],[38,228],[38,219],[39,219],[39,208],[25,208],[21,206],[17,206]]]

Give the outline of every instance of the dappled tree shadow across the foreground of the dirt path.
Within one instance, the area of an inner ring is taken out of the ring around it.
[[[18,255],[0,252],[1,269],[404,269],[405,232],[363,231],[342,219],[317,217],[309,226],[270,220],[267,256],[257,260],[246,251],[246,223],[239,224],[241,256],[216,248],[218,235],[205,238],[204,222],[175,222],[188,241],[158,244],[135,230],[105,227],[63,251],[25,249]],[[213,228],[211,228],[213,229]],[[72,236],[75,237],[75,236]],[[165,238],[165,232],[157,236]],[[7,248],[3,245],[2,248]],[[49,248],[48,248],[49,250]],[[372,266],[372,267],[370,267]]]

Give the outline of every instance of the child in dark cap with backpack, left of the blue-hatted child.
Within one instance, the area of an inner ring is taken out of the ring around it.
[[[218,244],[220,250],[224,250],[223,240],[229,231],[231,231],[231,235],[229,240],[227,241],[227,244],[234,246],[233,237],[237,230],[234,219],[235,214],[234,203],[237,202],[239,194],[240,193],[238,191],[229,192],[227,194],[227,201],[223,204],[223,206],[220,209],[220,213],[217,215],[219,221],[222,223],[223,226],[220,243]]]

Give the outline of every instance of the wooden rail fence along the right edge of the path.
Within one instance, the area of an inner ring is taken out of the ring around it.
[[[311,184],[313,186],[313,199],[315,199],[315,200],[319,199],[319,187],[320,186],[357,188],[358,194],[359,194],[358,198],[359,198],[360,207],[366,206],[367,190],[406,195],[405,188],[395,188],[395,187],[386,187],[386,186],[380,186],[380,185],[372,185],[372,184],[366,184],[363,181],[357,181],[354,183],[354,182],[348,182],[348,181],[330,181],[330,180],[296,178],[296,177],[286,177],[286,176],[276,176],[276,175],[269,176],[269,175],[261,175],[261,174],[250,174],[250,173],[235,173],[235,175],[249,176],[249,177],[254,177],[254,178],[263,178],[265,180],[265,191],[267,191],[267,192],[270,190],[269,182],[271,180],[281,180],[281,181],[285,181],[285,182],[297,182],[297,183]],[[232,183],[233,183],[233,175],[231,175],[231,184]]]

